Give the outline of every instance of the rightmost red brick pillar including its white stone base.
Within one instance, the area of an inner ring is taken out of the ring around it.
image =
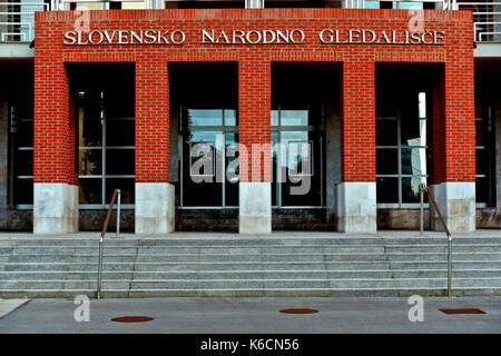
[[[475,230],[473,57],[463,50],[445,62],[434,95],[434,178],[430,189],[451,233]],[[443,230],[433,207],[431,227]]]

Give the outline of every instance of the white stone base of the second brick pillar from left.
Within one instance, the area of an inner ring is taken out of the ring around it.
[[[175,230],[175,188],[168,182],[136,182],[136,234]]]

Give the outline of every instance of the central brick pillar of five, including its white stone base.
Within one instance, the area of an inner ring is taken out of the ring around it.
[[[271,62],[238,62],[239,233],[272,231]]]

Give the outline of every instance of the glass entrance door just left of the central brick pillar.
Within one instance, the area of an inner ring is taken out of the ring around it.
[[[180,206],[238,207],[238,126],[235,109],[181,108]]]

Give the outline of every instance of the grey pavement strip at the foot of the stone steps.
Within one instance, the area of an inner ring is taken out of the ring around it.
[[[33,299],[0,319],[0,334],[499,334],[501,297],[424,298],[423,322],[410,322],[407,298],[90,299],[89,322],[76,322],[72,299]],[[315,314],[282,314],[314,308]],[[440,308],[485,314],[446,315]],[[111,318],[149,316],[148,323]]]

